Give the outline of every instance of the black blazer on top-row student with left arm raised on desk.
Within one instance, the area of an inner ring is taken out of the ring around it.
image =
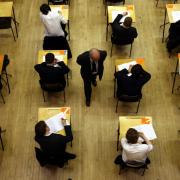
[[[137,37],[137,31],[134,27],[124,28],[120,24],[120,20],[123,17],[122,14],[118,14],[116,19],[112,23],[112,37],[114,40],[114,43],[118,44],[129,44],[134,41],[134,38]]]

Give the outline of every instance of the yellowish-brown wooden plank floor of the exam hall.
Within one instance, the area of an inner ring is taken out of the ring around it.
[[[10,30],[0,31],[0,53],[10,56],[8,71],[12,74],[12,92],[9,95],[4,89],[6,104],[0,103],[0,125],[7,130],[3,134],[5,151],[0,149],[0,179],[179,180],[180,136],[177,130],[180,129],[180,92],[175,90],[171,94],[170,74],[175,68],[176,57],[168,58],[165,43],[161,43],[162,29],[159,28],[163,23],[165,2],[160,0],[156,8],[154,0],[127,1],[127,4],[135,4],[137,22],[134,25],[139,34],[133,44],[132,57],[144,57],[146,69],[152,74],[152,79],[143,89],[139,115],[153,117],[158,136],[150,153],[151,165],[143,177],[131,170],[118,175],[118,167],[113,163],[119,154],[116,151],[118,117],[132,115],[136,107],[135,104],[121,104],[118,113],[115,113],[114,61],[118,57],[128,57],[129,47],[115,48],[110,58],[111,29],[109,27],[109,40],[106,42],[106,16],[102,0],[71,0],[70,45],[73,58],[70,62],[72,79],[66,90],[67,102],[64,104],[62,95],[57,94],[44,103],[39,77],[33,68],[37,52],[42,49],[43,25],[39,19],[39,6],[43,2],[47,1],[15,1],[20,23],[16,42]],[[91,107],[87,108],[76,58],[92,47],[107,50],[108,56],[103,79],[93,88]],[[180,85],[179,77],[177,79],[177,85]],[[72,148],[68,146],[68,151],[76,153],[77,159],[70,161],[64,169],[42,168],[35,158],[33,138],[37,112],[39,107],[48,106],[72,108],[74,141]]]

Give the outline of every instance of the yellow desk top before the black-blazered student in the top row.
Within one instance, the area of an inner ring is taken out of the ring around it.
[[[112,23],[112,11],[127,11],[132,17],[133,22],[136,22],[134,5],[124,5],[124,6],[108,6],[108,23]]]

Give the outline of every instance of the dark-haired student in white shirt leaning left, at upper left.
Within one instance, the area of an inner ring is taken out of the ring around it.
[[[67,20],[61,15],[60,12],[53,12],[48,4],[40,6],[40,18],[45,27],[45,36],[66,36],[62,25],[67,24]]]

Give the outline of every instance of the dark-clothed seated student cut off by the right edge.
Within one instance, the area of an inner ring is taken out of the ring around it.
[[[169,36],[167,41],[167,50],[171,52],[174,48],[180,45],[180,20],[172,23],[169,28]]]

